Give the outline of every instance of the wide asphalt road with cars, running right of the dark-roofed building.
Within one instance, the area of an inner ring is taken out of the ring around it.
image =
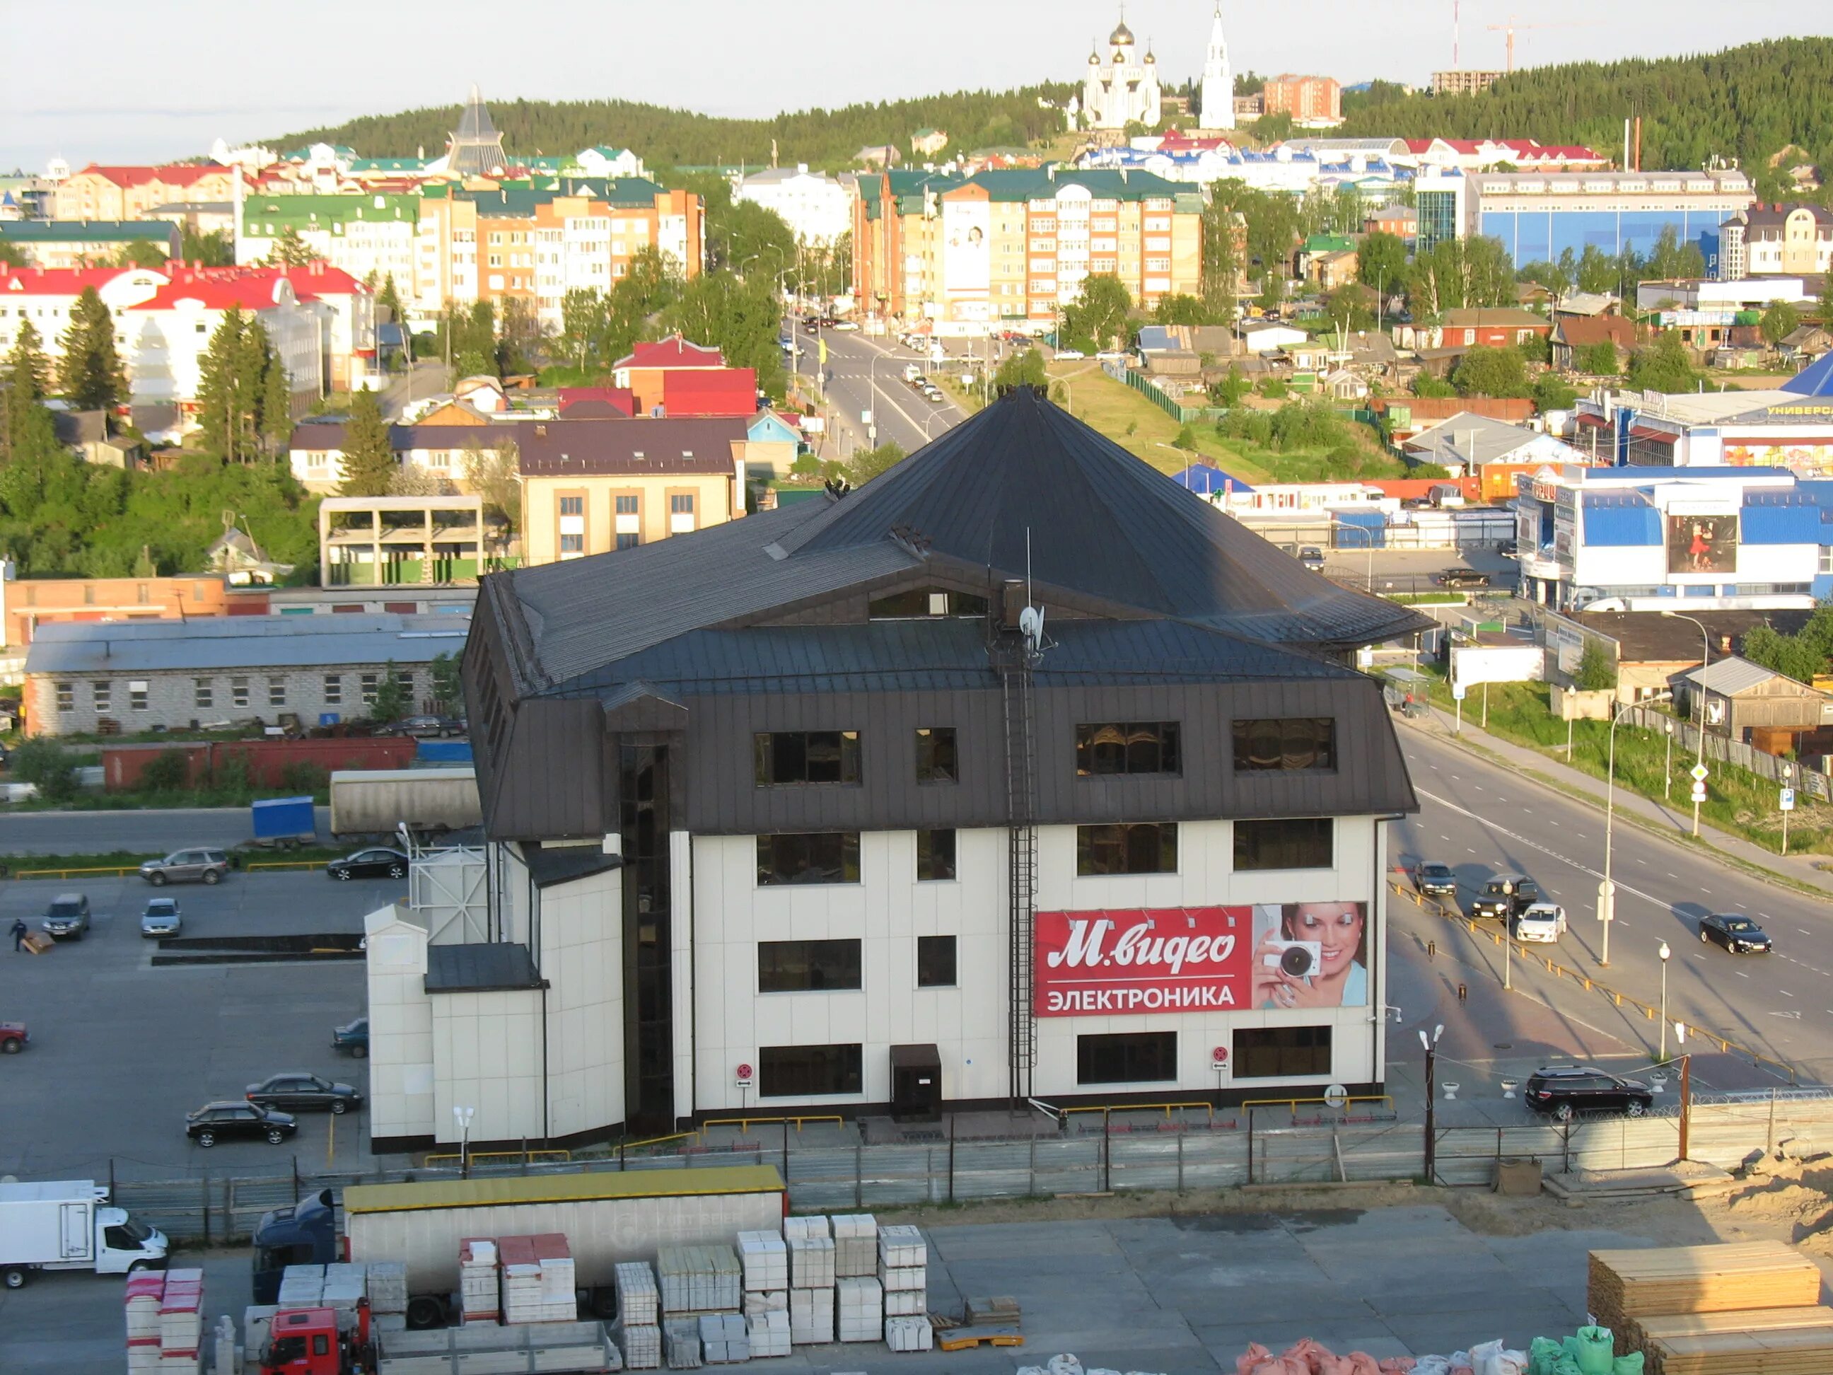
[[[1393,827],[1391,864],[1450,864],[1465,908],[1490,873],[1531,874],[1569,922],[1556,948],[1534,946],[1534,953],[1659,1006],[1666,942],[1670,1021],[1716,1030],[1833,1082],[1833,904],[1619,823],[1611,838],[1617,920],[1606,968],[1597,920],[1604,814],[1404,726],[1400,744],[1421,812]],[[1446,937],[1443,920],[1411,904],[1395,902],[1389,911],[1397,937]],[[1776,940],[1776,953],[1730,955],[1701,944],[1699,918],[1714,911],[1754,918]],[[1597,1021],[1620,1016],[1598,999]]]

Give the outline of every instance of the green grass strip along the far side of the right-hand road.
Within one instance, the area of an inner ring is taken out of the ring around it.
[[[1472,688],[1465,697],[1465,720],[1483,722],[1483,688]],[[1432,684],[1432,704],[1454,710],[1452,689],[1443,678]],[[1549,759],[1565,759],[1565,722],[1547,708],[1547,686],[1540,682],[1488,684],[1490,735],[1525,744]],[[1567,761],[1593,777],[1606,777],[1609,768],[1609,722],[1575,720],[1573,757]],[[1668,774],[1668,741],[1659,732],[1639,730],[1628,722],[1617,726],[1617,786],[1639,792],[1652,801],[1690,807],[1688,790],[1694,755],[1674,748],[1674,772]],[[1782,812],[1776,810],[1776,785],[1743,768],[1708,761],[1707,799],[1699,820],[1743,836],[1754,845],[1782,851]],[[1672,796],[1664,783],[1672,781]],[[1789,852],[1833,854],[1833,807],[1818,803],[1796,790],[1795,814],[1789,818]]]

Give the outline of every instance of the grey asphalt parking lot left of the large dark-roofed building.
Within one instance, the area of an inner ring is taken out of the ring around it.
[[[332,1027],[365,1010],[361,961],[154,968],[139,935],[147,898],[178,900],[187,937],[361,931],[363,917],[405,891],[390,880],[335,884],[323,871],[235,873],[214,887],[152,889],[139,878],[0,884],[0,931],[37,930],[59,893],[90,898],[93,926],[44,955],[0,946],[0,1019],[31,1028],[31,1047],[0,1058],[0,1173],[22,1179],[178,1179],[280,1173],[368,1162],[367,1116],[306,1113],[284,1146],[262,1140],[200,1150],[183,1118],[213,1098],[240,1098],[268,1074],[306,1069],[367,1093],[367,1062],[332,1052]]]

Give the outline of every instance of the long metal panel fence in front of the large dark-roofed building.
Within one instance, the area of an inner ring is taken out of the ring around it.
[[[1230,1113],[1234,1113],[1230,1116]],[[1547,1173],[1633,1170],[1679,1155],[1679,1107],[1641,1118],[1589,1122],[1532,1120],[1518,1126],[1452,1126],[1435,1133],[1439,1184],[1487,1186],[1499,1159],[1534,1157]],[[1785,1142],[1833,1142],[1833,1091],[1778,1089],[1718,1094],[1692,1107],[1688,1157],[1723,1168],[1752,1151]],[[1122,1124],[1019,1138],[907,1140],[902,1144],[796,1146],[744,1142],[742,1150],[689,1150],[554,1164],[475,1166],[489,1173],[570,1173],[598,1170],[695,1170],[722,1164],[774,1164],[805,1212],[891,1208],[924,1203],[1017,1199],[1135,1190],[1201,1190],[1241,1184],[1316,1184],[1333,1181],[1419,1179],[1426,1131],[1417,1118],[1329,1109],[1223,1109],[1213,1122],[1166,1116],[1149,1126]],[[114,1199],[180,1241],[222,1243],[246,1238],[268,1208],[321,1188],[451,1179],[456,1170],[383,1173],[229,1175],[181,1181],[114,1179]]]

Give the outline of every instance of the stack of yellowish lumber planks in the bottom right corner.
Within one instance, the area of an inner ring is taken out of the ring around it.
[[[1818,1298],[1820,1269],[1780,1241],[1591,1252],[1587,1305],[1648,1375],[1822,1375]]]

